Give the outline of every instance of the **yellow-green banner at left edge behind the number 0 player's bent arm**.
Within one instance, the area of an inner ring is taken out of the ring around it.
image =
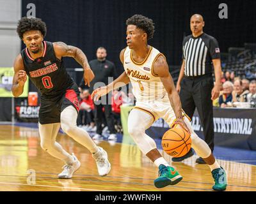
[[[12,94],[12,79],[13,68],[0,68],[0,98],[13,97]],[[24,85],[24,91],[19,97],[28,97],[28,80]]]

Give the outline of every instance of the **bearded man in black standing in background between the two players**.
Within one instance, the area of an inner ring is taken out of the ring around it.
[[[94,59],[89,62],[90,67],[95,75],[92,82],[90,82],[91,86],[89,88],[90,94],[92,94],[93,89],[97,89],[98,87],[102,87],[106,84],[109,84],[113,81],[113,78],[116,78],[116,69],[113,62],[108,61],[106,59],[107,51],[104,47],[99,47],[97,49],[97,59]],[[80,87],[83,88],[84,80],[81,81]],[[105,98],[104,98],[105,99]],[[95,104],[95,124],[97,127],[96,135],[93,136],[94,140],[99,140],[102,138],[102,117],[106,118],[106,123],[109,129],[109,137],[108,140],[116,140],[115,134],[115,124],[114,124],[114,117],[111,108],[111,100],[109,96],[106,96],[106,100],[102,100],[103,103]],[[102,110],[104,108],[104,112]],[[104,115],[103,115],[104,114]]]

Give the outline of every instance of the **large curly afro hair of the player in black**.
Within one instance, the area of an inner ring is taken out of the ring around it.
[[[40,18],[23,17],[19,20],[16,31],[20,37],[20,40],[22,40],[23,34],[26,31],[33,30],[40,31],[42,35],[45,37],[47,31],[45,22],[42,21]]]

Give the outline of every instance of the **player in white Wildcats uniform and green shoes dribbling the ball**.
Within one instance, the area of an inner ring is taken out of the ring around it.
[[[147,43],[154,34],[152,20],[142,15],[134,15],[127,19],[126,24],[127,47],[120,52],[125,71],[111,84],[95,89],[92,98],[98,101],[109,91],[131,82],[136,106],[129,114],[128,131],[140,150],[159,168],[159,177],[154,180],[156,187],[174,185],[182,180],[178,171],[161,156],[156,142],[145,134],[145,130],[162,117],[170,127],[179,124],[191,133],[193,149],[198,156],[204,158],[211,169],[215,181],[212,188],[224,191],[227,187],[225,170],[218,164],[207,143],[195,134],[189,119],[184,117],[179,94],[164,55]]]

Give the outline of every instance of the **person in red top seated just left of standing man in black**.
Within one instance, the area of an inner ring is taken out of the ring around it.
[[[81,114],[81,120],[84,122],[83,124],[85,125],[85,127],[83,127],[84,129],[86,129],[86,131],[96,131],[96,126],[95,126],[95,122],[94,122],[94,105],[93,105],[93,100],[91,98],[91,95],[89,93],[88,89],[84,89],[81,94],[81,105],[80,105],[80,111],[79,111],[79,115]]]

